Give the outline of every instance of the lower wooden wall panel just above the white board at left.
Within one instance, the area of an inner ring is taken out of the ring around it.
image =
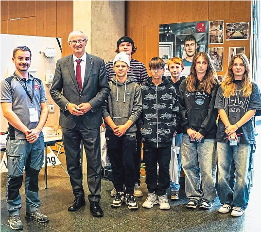
[[[9,20],[8,34],[36,36],[36,17]]]

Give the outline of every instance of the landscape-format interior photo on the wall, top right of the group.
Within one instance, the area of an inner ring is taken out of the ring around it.
[[[226,40],[248,39],[248,22],[226,23]]]

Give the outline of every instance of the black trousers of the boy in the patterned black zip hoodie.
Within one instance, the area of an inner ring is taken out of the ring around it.
[[[146,184],[150,193],[158,196],[166,194],[170,186],[171,146],[150,147],[144,142],[143,160],[145,161]],[[159,166],[157,175],[157,163]]]

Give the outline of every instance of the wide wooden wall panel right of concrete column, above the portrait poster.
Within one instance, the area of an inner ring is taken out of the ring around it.
[[[208,20],[208,1],[125,1],[125,25],[147,26]]]

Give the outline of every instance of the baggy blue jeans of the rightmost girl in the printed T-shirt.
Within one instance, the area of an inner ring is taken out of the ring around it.
[[[217,143],[218,148],[218,196],[222,204],[247,207],[249,178],[252,161],[252,144],[231,147]]]

